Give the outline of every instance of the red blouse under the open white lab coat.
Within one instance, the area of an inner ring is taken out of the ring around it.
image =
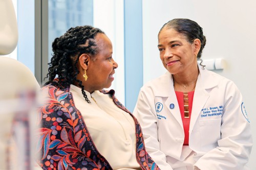
[[[184,138],[184,143],[183,145],[188,145],[188,138],[189,138],[189,124],[190,124],[190,117],[191,117],[191,110],[192,110],[192,104],[193,104],[193,98],[194,98],[194,92],[195,91],[189,91],[188,92],[188,111],[189,111],[189,117],[185,118],[184,114],[184,93],[180,91],[175,91],[179,108],[180,108],[180,114],[181,114],[181,119],[183,123],[183,128],[184,128],[184,133],[185,133],[185,138]]]

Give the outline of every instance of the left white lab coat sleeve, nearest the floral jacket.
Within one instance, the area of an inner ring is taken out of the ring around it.
[[[160,151],[157,115],[154,112],[154,109],[155,102],[152,90],[146,92],[140,90],[133,114],[138,119],[142,128],[146,151],[160,169],[173,170],[173,168],[166,162],[165,154]]]

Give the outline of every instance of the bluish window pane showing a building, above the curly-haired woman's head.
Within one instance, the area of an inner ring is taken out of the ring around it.
[[[93,26],[93,0],[49,0],[49,61],[52,56],[52,42],[64,34],[69,28]]]

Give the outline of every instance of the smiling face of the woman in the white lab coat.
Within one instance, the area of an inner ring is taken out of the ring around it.
[[[197,69],[200,44],[199,39],[189,43],[174,29],[162,29],[158,36],[158,49],[163,66],[173,75]]]

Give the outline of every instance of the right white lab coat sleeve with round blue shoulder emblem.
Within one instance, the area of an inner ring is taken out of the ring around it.
[[[229,82],[225,90],[218,147],[202,156],[195,164],[201,170],[243,170],[248,162],[252,135],[243,99],[237,86]]]

